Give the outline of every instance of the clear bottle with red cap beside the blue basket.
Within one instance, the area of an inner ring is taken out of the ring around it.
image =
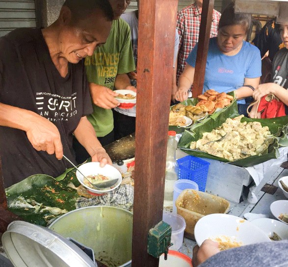
[[[173,187],[178,180],[179,166],[176,161],[177,141],[175,140],[176,132],[168,132],[166,172],[165,172],[165,189],[164,189],[164,207],[173,206]]]

